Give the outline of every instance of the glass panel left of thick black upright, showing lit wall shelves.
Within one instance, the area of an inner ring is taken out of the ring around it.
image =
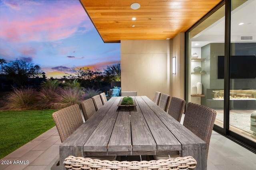
[[[225,5],[189,32],[188,101],[217,111],[216,124],[223,128],[224,69],[218,74],[219,57],[224,57]],[[224,59],[224,58],[223,58]],[[221,63],[222,64],[222,63]],[[202,89],[199,89],[202,85]]]

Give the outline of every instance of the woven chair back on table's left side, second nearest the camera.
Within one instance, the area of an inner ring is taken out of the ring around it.
[[[92,98],[82,101],[81,108],[85,121],[88,120],[96,112]]]

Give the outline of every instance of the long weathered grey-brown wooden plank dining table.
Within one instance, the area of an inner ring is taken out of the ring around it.
[[[133,109],[118,106],[122,98],[112,97],[60,145],[61,169],[70,155],[171,154],[193,156],[196,169],[206,170],[204,141],[147,96],[132,97],[137,105]]]

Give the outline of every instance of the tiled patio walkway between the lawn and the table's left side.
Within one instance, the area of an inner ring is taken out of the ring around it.
[[[6,160],[12,164],[0,164],[0,170],[60,170],[60,166],[56,166],[60,144],[58,131],[53,127],[2,158],[1,163]]]

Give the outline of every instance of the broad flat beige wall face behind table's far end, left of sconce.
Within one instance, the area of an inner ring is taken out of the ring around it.
[[[121,40],[121,88],[153,100],[171,95],[172,40]]]

